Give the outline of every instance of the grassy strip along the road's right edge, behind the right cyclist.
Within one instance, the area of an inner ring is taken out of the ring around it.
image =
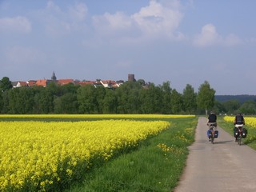
[[[226,130],[226,132],[233,136],[234,124],[232,122],[225,122],[222,117],[219,117],[218,126],[221,126],[223,130]],[[242,142],[256,150],[256,129],[247,125],[244,127],[248,130],[248,134],[246,138],[242,139]]]

